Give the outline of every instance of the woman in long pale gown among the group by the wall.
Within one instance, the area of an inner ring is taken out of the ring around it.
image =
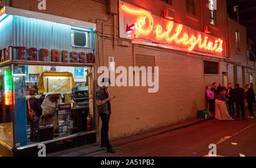
[[[226,108],[226,96],[221,86],[217,87],[215,100],[215,118],[218,120],[234,120]]]

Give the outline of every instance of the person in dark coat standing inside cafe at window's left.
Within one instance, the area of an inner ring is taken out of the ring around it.
[[[28,100],[26,100],[27,120],[30,122],[30,141],[36,142],[36,131],[39,128],[39,118],[42,115],[42,107],[36,96],[36,89],[30,89],[30,108],[35,111],[35,115],[30,118],[28,110]]]

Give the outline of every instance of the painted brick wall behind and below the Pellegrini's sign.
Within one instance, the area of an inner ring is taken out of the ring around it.
[[[201,3],[199,0],[195,1],[195,16],[186,13],[185,0],[172,0],[171,6],[159,0],[157,2],[160,5],[157,5],[155,0],[125,0],[125,2],[149,10],[152,14],[158,16],[162,16],[163,10],[167,9],[167,7],[174,9],[174,22],[185,24],[198,31],[202,30],[202,26],[209,26],[209,9],[206,7],[207,0],[202,0]],[[232,83],[234,87],[233,66],[238,66],[237,77],[240,83],[243,82],[241,66],[254,68],[253,62],[246,60],[245,27],[229,19],[230,32],[228,31],[228,17],[225,10],[226,3],[222,0],[217,0],[217,24],[213,26],[214,28],[209,27],[209,31],[212,32],[210,35],[226,40],[225,51],[227,56],[229,56],[228,32],[230,33],[231,57],[226,61],[222,58],[199,56],[144,45],[134,45],[129,40],[129,47],[122,47],[117,45],[117,43],[113,45],[114,19],[113,16],[106,14],[106,5],[103,3],[91,0],[47,1],[46,11],[39,11],[37,8],[38,3],[38,1],[30,0],[13,0],[13,7],[96,23],[97,32],[104,32],[105,35],[110,35],[109,37],[102,37],[96,34],[97,60],[96,66],[94,67],[95,87],[97,87],[97,68],[102,65],[108,66],[109,56],[114,57],[116,67],[125,66],[126,68],[128,66],[134,66],[133,58],[135,54],[155,56],[155,65],[159,66],[158,93],[147,93],[148,87],[110,87],[110,93],[116,96],[112,102],[112,117],[110,119],[109,130],[110,138],[126,136],[196,117],[197,110],[203,110],[207,107],[205,86],[212,86],[212,82],[222,82],[222,72],[226,72],[228,82]],[[202,7],[201,9],[200,6]],[[202,25],[201,14],[203,17]],[[196,22],[195,19],[198,21]],[[108,23],[106,23],[103,30],[102,23],[107,21]],[[116,40],[123,40],[118,38],[118,17],[116,18],[116,25]],[[236,48],[234,48],[236,46],[234,43],[236,42],[234,40],[234,31],[236,30],[241,33],[241,53],[236,53]],[[203,60],[220,62],[220,73],[218,75],[204,75]],[[250,82],[249,72],[253,72],[253,80],[255,80],[256,74],[254,70],[246,68],[246,83]],[[117,75],[115,76],[117,77]],[[101,121],[96,117],[98,137],[100,135],[100,127]]]

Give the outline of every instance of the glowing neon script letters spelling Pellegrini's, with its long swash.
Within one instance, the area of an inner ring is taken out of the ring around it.
[[[196,45],[199,47],[200,50],[205,51],[211,51],[211,52],[217,52],[221,53],[223,51],[222,49],[222,43],[223,41],[220,38],[217,38],[217,40],[210,41],[208,39],[208,36],[205,36],[204,39],[202,39],[202,36],[200,33],[197,34],[197,36],[194,35],[188,35],[188,32],[181,33],[183,31],[183,24],[179,24],[176,26],[176,30],[174,30],[174,22],[169,21],[167,23],[166,30],[164,31],[162,26],[159,24],[156,24],[154,27],[154,19],[152,18],[152,15],[143,10],[134,10],[130,7],[127,7],[124,3],[122,3],[122,9],[126,12],[129,12],[131,14],[139,14],[142,15],[141,18],[138,18],[136,21],[135,26],[135,33],[134,38],[140,37],[140,35],[147,35],[151,33],[152,31],[155,32],[155,38],[162,40],[166,39],[167,42],[175,41],[175,43],[179,44],[182,43],[183,45],[188,45],[188,51],[191,52],[193,49],[195,49]],[[146,26],[146,19],[149,20]],[[127,25],[128,26],[128,25]],[[146,27],[146,28],[145,28]],[[129,27],[128,27],[129,28]],[[127,31],[127,30],[126,30]]]

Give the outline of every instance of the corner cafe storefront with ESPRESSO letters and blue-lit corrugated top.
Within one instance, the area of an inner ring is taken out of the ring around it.
[[[96,141],[93,68],[96,24],[4,7],[0,11],[0,156],[38,156]],[[53,123],[40,116],[31,141],[26,100],[59,96]]]

